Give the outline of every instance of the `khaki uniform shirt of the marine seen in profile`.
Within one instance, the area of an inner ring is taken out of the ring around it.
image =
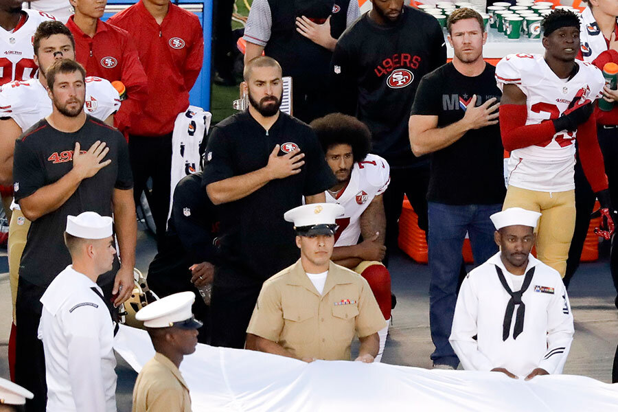
[[[155,354],[141,369],[133,388],[133,412],[191,412],[189,388],[170,359]]]

